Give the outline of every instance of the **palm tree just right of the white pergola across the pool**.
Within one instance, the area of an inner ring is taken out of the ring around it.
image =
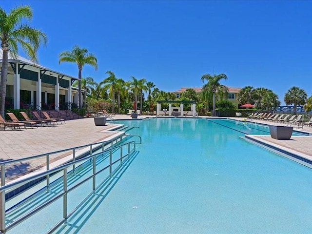
[[[204,90],[204,92],[206,90],[209,90],[210,92],[213,93],[213,116],[215,116],[215,92],[220,88],[223,90],[225,89],[227,90],[226,86],[219,83],[221,79],[228,79],[228,77],[225,74],[219,74],[214,76],[211,76],[210,74],[205,74],[200,79],[203,82],[205,80],[208,81],[207,85],[204,85],[202,90]]]

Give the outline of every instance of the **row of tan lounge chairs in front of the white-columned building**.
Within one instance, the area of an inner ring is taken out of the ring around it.
[[[24,127],[26,129],[26,126],[30,126],[31,128],[33,127],[38,127],[38,125],[41,126],[48,126],[49,124],[58,124],[64,122],[65,120],[62,118],[51,118],[49,116],[49,114],[45,111],[41,112],[42,115],[45,117],[44,119],[42,119],[39,115],[39,113],[37,111],[33,111],[33,115],[37,118],[37,119],[31,119],[27,113],[25,112],[20,112],[20,114],[22,115],[22,117],[25,120],[19,120],[14,113],[6,113],[12,120],[12,122],[7,122],[5,119],[3,119],[0,116],[0,127],[3,127],[3,130],[5,130],[5,128],[10,128],[10,129],[20,129],[20,127]]]

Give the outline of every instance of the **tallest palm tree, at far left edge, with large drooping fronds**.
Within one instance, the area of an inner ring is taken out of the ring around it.
[[[2,49],[2,71],[0,80],[0,115],[4,118],[6,83],[8,76],[8,53],[13,57],[18,55],[18,45],[30,57],[38,62],[37,51],[47,37],[39,29],[25,24],[31,20],[33,13],[30,6],[20,6],[12,9],[8,14],[0,7],[0,40]],[[15,100],[17,101],[17,100]]]

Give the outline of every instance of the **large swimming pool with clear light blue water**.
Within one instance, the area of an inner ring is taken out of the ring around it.
[[[128,133],[143,144],[114,186],[56,233],[311,233],[312,170],[240,138],[269,135],[268,127],[195,118],[119,123],[135,127]],[[54,210],[44,212],[25,225],[44,215],[49,222]]]

